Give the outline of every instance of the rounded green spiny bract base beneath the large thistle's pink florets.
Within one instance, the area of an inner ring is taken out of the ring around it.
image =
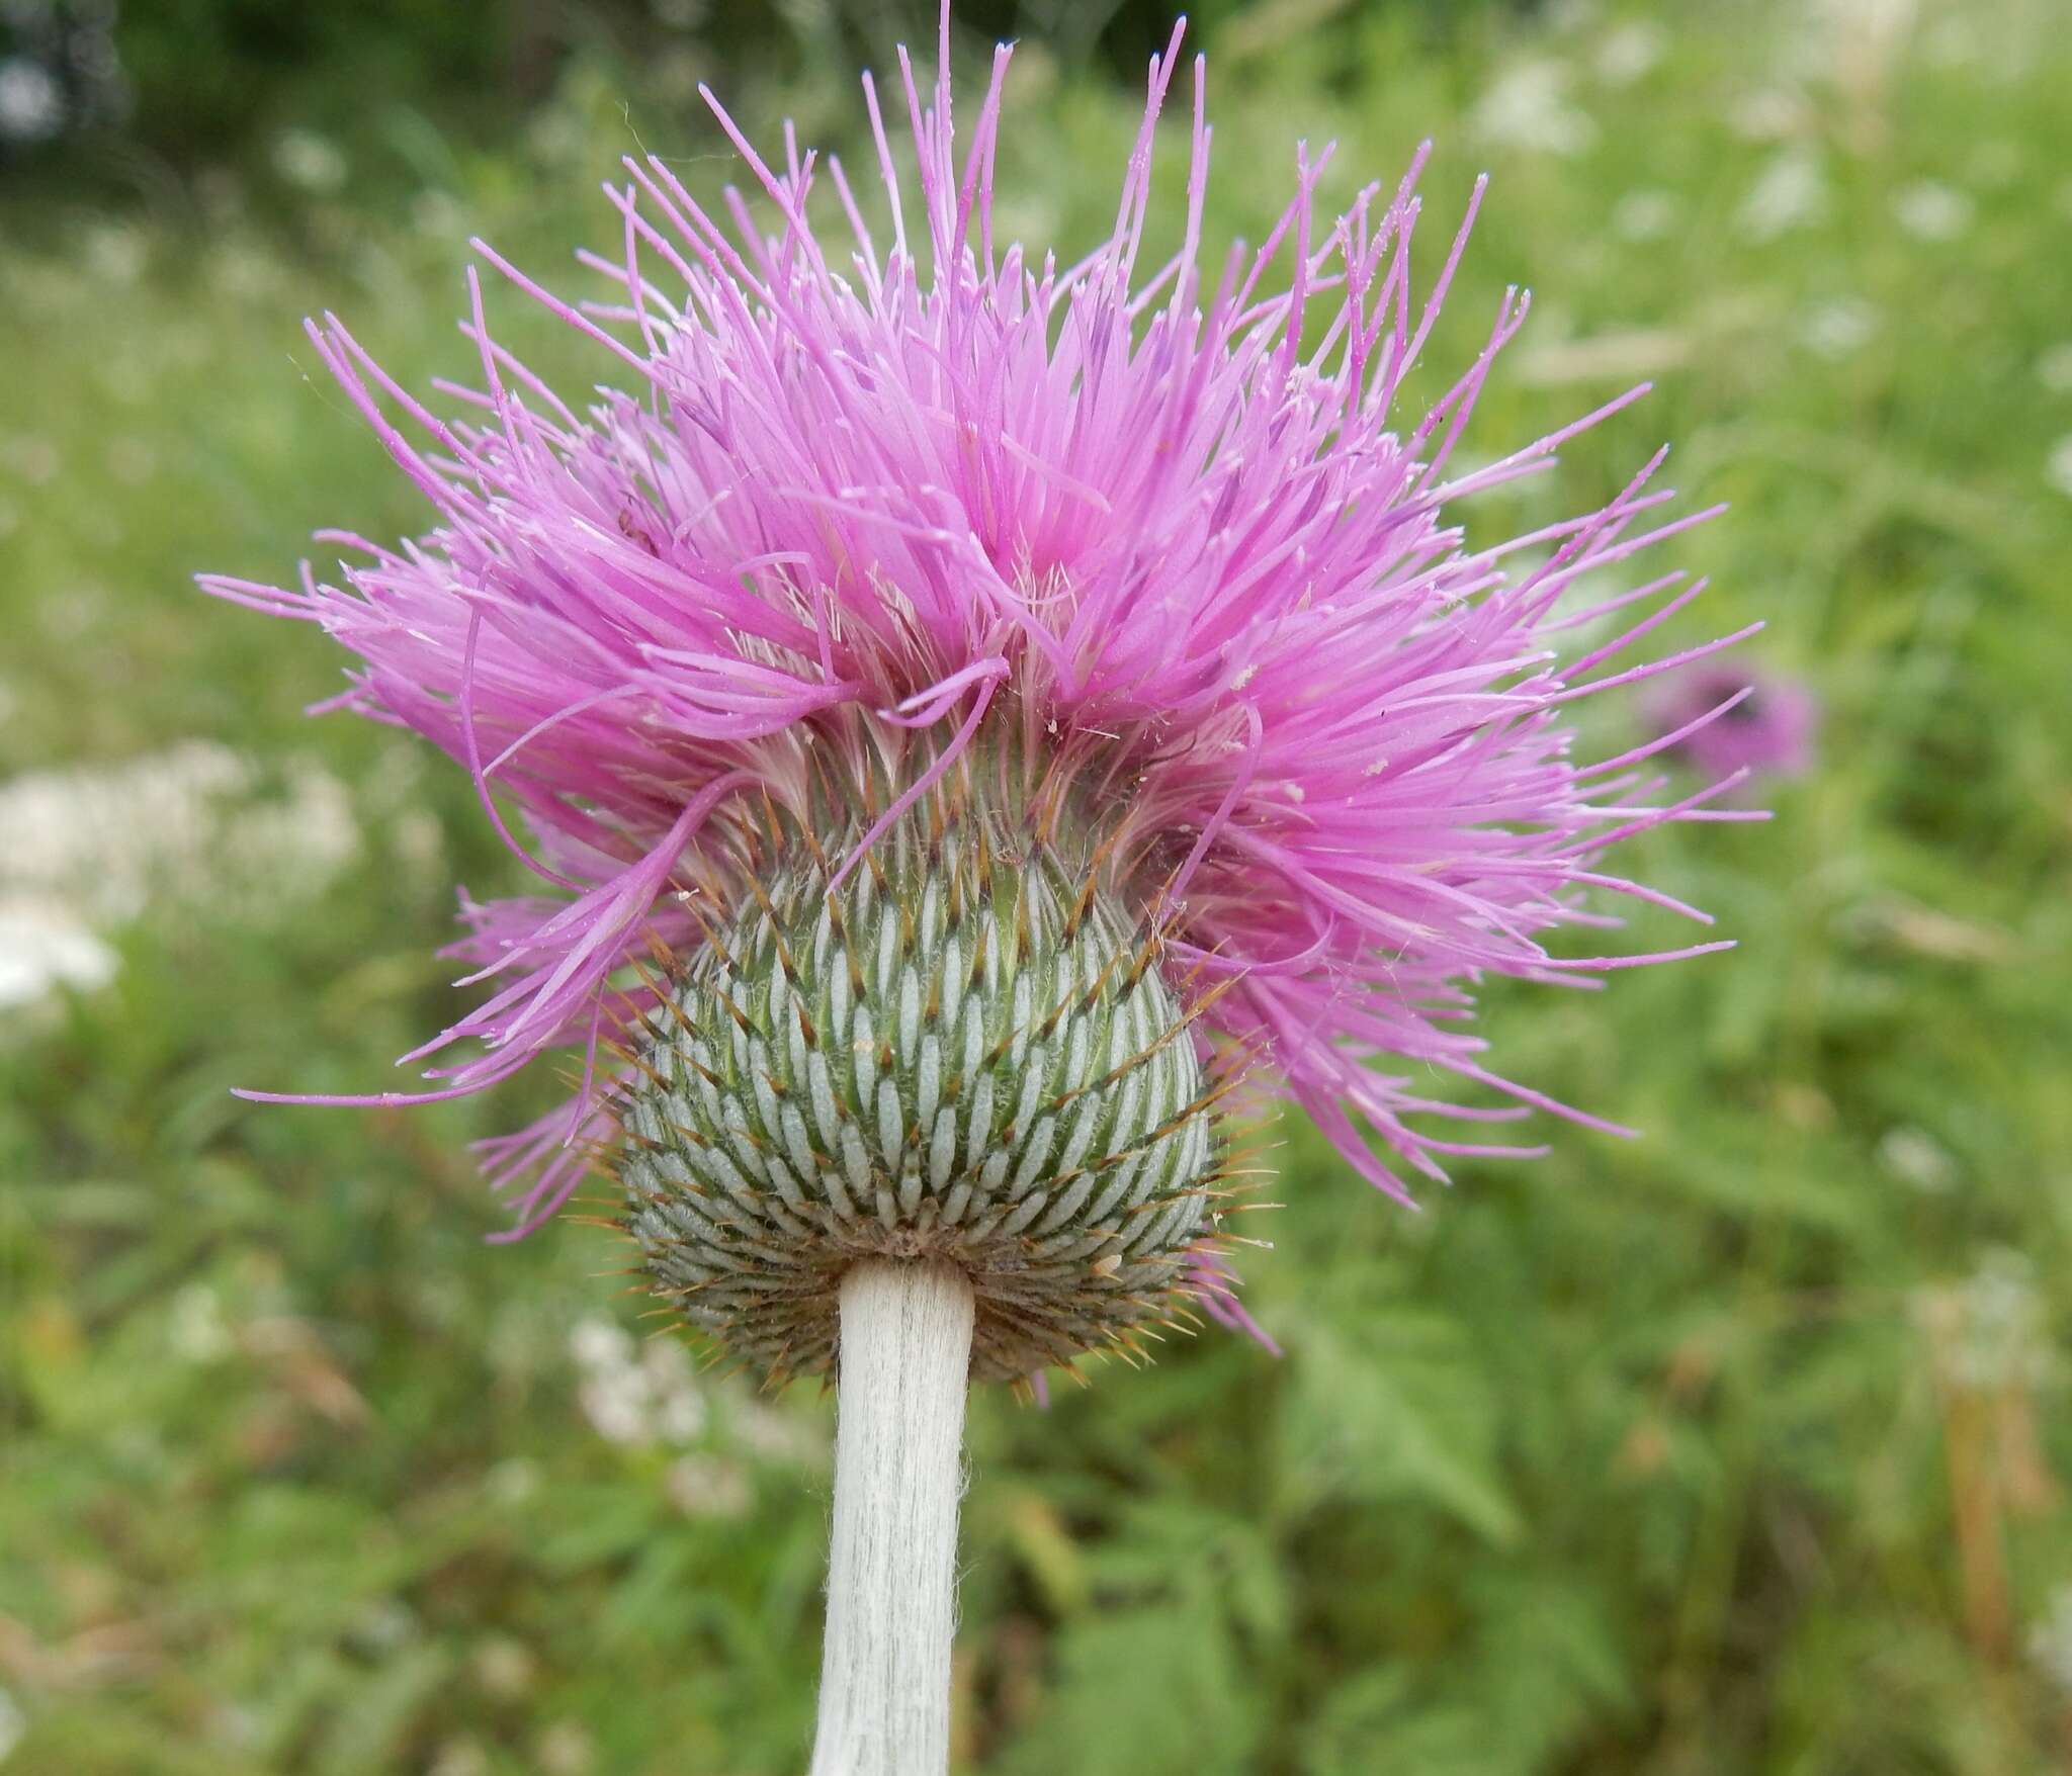
[[[760,1372],[831,1366],[870,1256],[970,1277],[980,1380],[1127,1343],[1185,1289],[1214,1090],[1158,933],[1055,804],[995,790],[955,771],[862,856],[868,817],[781,823],[642,1026],[628,1229]]]

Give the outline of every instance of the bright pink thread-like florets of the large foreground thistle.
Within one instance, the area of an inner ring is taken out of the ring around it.
[[[607,995],[640,1001],[630,968],[651,935],[702,941],[671,893],[680,872],[760,798],[794,800],[806,746],[924,729],[934,775],[1011,719],[1127,773],[1109,839],[1162,885],[1175,991],[1216,991],[1216,1053],[1243,1055],[1378,1187],[1409,1202],[1407,1173],[1442,1179],[1450,1154],[1521,1150],[1432,1123],[1544,1109],[1612,1129],[1492,1071],[1469,986],[1589,984],[1726,947],[1573,955],[1544,939],[1614,924],[1581,906],[1585,891],[1705,922],[1595,860],[1666,821],[1751,817],[1707,806],[1726,785],[1664,800],[1643,769],[1662,742],[1579,763],[1566,715],[1740,636],[1618,659],[1703,586],[1664,572],[1604,591],[1707,516],[1662,516],[1660,454],[1602,510],[1529,535],[1484,535],[1469,512],[1643,390],[1452,470],[1525,294],[1504,296],[1430,410],[1399,414],[1397,396],[1479,184],[1419,284],[1426,153],[1332,220],[1316,205],[1330,149],[1297,147],[1295,193],[1264,242],[1206,261],[1198,58],[1191,128],[1177,131],[1181,247],[1140,263],[1175,29],[1150,66],[1115,228],[1059,263],[995,228],[1009,52],[995,52],[961,137],[947,37],[945,8],[932,87],[899,56],[918,193],[864,81],[887,232],[837,160],[823,172],[787,131],[765,162],[709,97],[750,191],[729,189],[715,213],[665,162],[628,160],[628,182],[607,189],[624,253],[584,255],[615,286],[607,303],[572,307],[477,242],[617,361],[626,392],[584,410],[495,344],[472,271],[481,388],[448,390],[460,417],[398,388],[336,317],[311,323],[433,528],[396,547],[323,533],[358,557],[342,584],[307,570],[290,589],[203,584],[329,632],[358,661],[329,707],[460,761],[543,883],[462,904],[454,953],[485,997],[404,1057],[439,1057],[416,1096],[483,1090],[549,1049],[582,1057],[570,1107],[487,1144],[491,1179],[518,1192],[514,1233],[537,1225],[609,1125]],[[1635,609],[1649,613],[1562,659],[1564,632]],[[1469,1102],[1438,1092],[1444,1073]]]

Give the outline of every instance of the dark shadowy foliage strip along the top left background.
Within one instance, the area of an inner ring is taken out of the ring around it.
[[[968,39],[1024,37],[1075,75],[1135,83],[1181,10],[1210,39],[1303,31],[1351,46],[1363,17],[1388,12],[1444,39],[1461,19],[1533,0],[972,0]],[[110,29],[112,27],[112,29]],[[48,68],[70,95],[64,128],[10,141],[0,106],[0,164],[37,145],[93,187],[137,184],[168,170],[244,166],[282,128],[315,128],[361,147],[381,114],[410,108],[441,133],[493,143],[572,68],[597,68],[620,91],[671,66],[686,97],[698,79],[736,102],[823,83],[831,68],[876,64],[887,46],[932,46],[928,0],[4,0],[0,62]],[[91,66],[87,66],[91,62]],[[108,64],[106,68],[102,64]],[[108,89],[106,95],[93,97]],[[116,97],[120,95],[120,104]],[[87,155],[77,153],[85,139]],[[64,153],[70,149],[70,153]]]

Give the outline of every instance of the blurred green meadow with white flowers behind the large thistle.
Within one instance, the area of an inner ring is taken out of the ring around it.
[[[1776,823],[1627,860],[1738,953],[1486,995],[1506,1071],[1641,1140],[1550,1127],[1413,1216],[1264,1129],[1287,1206],[1245,1274],[1285,1359],[1218,1333],[974,1401],[961,1768],[2064,1768],[2072,41],[2020,0],[1322,10],[1212,25],[1210,236],[1258,236],[1297,133],[1341,141],[1341,197],[1436,133],[1434,236],[1488,166],[1417,394],[1527,278],[1469,448],[1658,390],[1471,531],[1674,437],[1732,512],[1678,541],[1716,589],[1662,640],[1769,618],[1751,653],[1821,688],[1825,756]],[[6,1776],[802,1764],[829,1407],[615,1343],[651,1328],[591,1229],[481,1243],[464,1142],[553,1084],[228,1096],[383,1078],[450,1018],[452,883],[514,866],[462,773],[303,719],[319,638],[184,578],[416,528],[296,317],[468,375],[464,234],[547,276],[613,251],[595,178],[634,143],[717,187],[702,66],[574,54],[497,135],[319,54],[329,110],[255,93],[249,162],[120,207],[0,191],[0,796],[197,738],[263,761],[189,839],[215,887],[135,852],[164,881],[114,978],[0,1028]],[[854,147],[847,68],[800,68],[742,112]],[[1009,112],[1003,228],[1098,238],[1129,97],[1032,33]],[[564,388],[609,371],[510,292],[493,321]],[[346,850],[284,870],[249,821],[311,781]],[[0,833],[0,883],[46,846]]]

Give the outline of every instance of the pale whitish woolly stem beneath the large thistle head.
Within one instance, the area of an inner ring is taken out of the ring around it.
[[[841,1279],[835,1531],[810,1776],[943,1776],[972,1285],[868,1260]]]

